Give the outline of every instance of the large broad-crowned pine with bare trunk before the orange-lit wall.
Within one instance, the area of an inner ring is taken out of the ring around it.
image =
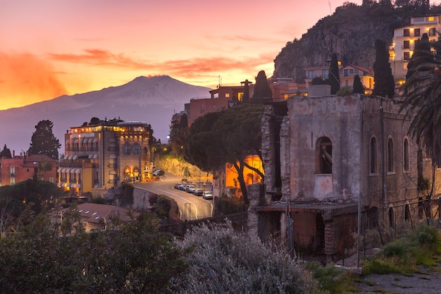
[[[245,162],[248,155],[261,156],[261,104],[240,104],[197,118],[185,141],[185,158],[203,171],[235,167],[244,201],[248,202],[244,167],[263,173]]]

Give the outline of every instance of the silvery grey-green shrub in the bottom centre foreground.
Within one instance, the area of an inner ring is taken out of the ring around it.
[[[313,293],[315,283],[300,264],[231,223],[194,227],[178,245],[190,251],[190,268],[175,281],[176,293],[216,293],[207,266],[225,293]]]

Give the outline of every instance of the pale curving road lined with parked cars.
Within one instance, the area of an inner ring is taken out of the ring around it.
[[[205,219],[212,216],[213,204],[211,200],[204,200],[201,196],[195,196],[173,188],[175,183],[178,183],[180,180],[180,177],[166,172],[158,181],[135,183],[134,186],[158,195],[163,194],[173,198],[178,203],[180,219],[182,221]]]

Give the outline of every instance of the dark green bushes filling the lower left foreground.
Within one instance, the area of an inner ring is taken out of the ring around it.
[[[39,215],[0,239],[1,293],[167,293],[183,253],[149,215],[118,230],[60,235]]]

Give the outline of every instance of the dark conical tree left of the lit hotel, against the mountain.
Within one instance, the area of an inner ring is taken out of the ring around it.
[[[32,139],[28,153],[44,154],[52,159],[58,159],[58,149],[61,147],[60,142],[52,133],[54,123],[49,120],[39,121],[35,125],[35,132],[32,134]]]

